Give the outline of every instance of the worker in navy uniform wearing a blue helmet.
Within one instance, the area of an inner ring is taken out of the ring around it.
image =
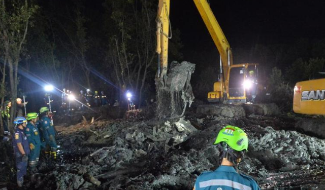
[[[16,132],[12,138],[12,144],[14,147],[14,155],[16,158],[17,167],[17,184],[22,187],[24,182],[24,175],[27,172],[27,162],[29,155],[29,144],[27,137],[24,133],[27,121],[24,117],[17,117],[14,120]]]

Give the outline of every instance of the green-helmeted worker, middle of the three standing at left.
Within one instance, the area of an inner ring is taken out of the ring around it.
[[[31,172],[34,172],[36,169],[37,163],[40,158],[40,151],[41,151],[40,133],[36,126],[38,117],[39,115],[36,112],[27,113],[27,117],[26,117],[28,124],[25,128],[25,134],[27,136],[29,148],[30,148],[30,154],[28,157],[28,166]]]

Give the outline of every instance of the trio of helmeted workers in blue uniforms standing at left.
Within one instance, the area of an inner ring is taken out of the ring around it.
[[[30,173],[36,171],[41,149],[45,154],[56,158],[57,144],[55,129],[51,121],[51,112],[48,107],[40,108],[39,113],[27,113],[26,118],[17,117],[14,120],[15,133],[12,138],[14,155],[16,158],[17,184],[22,186],[27,166]]]

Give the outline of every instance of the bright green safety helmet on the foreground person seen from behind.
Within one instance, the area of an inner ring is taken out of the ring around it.
[[[219,144],[220,142],[227,143],[231,148],[237,151],[247,151],[248,148],[248,137],[246,133],[241,128],[231,125],[219,131],[213,144]]]

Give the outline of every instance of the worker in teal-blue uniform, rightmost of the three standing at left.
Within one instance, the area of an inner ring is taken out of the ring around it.
[[[42,128],[42,132],[44,132],[44,139],[46,141],[46,154],[50,154],[53,156],[54,159],[56,159],[56,140],[55,140],[55,129],[51,122],[51,112],[49,111],[48,107],[41,107],[40,109],[41,114],[41,122],[40,127]]]

